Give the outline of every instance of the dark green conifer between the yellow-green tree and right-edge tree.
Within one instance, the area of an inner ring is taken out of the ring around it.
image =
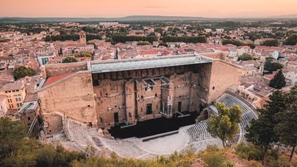
[[[283,91],[274,91],[269,97],[270,100],[265,104],[265,109],[258,109],[260,113],[258,120],[252,120],[245,128],[247,141],[263,148],[263,156],[270,148],[270,144],[278,142],[274,127],[278,124],[278,113],[286,110],[285,97]]]

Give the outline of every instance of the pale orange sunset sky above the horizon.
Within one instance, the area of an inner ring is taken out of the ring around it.
[[[0,16],[263,17],[297,14],[297,0],[0,0]]]

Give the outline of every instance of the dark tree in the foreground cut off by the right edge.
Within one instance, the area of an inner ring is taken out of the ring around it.
[[[286,98],[287,111],[278,114],[279,122],[276,125],[276,134],[282,144],[292,146],[289,160],[292,160],[294,149],[297,146],[297,87],[293,87]]]

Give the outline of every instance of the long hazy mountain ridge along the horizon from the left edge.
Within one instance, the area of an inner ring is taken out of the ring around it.
[[[29,17],[0,17],[0,22],[91,22],[91,21],[195,21],[206,19],[203,17],[194,16],[124,16],[116,18],[105,17],[89,17],[89,18],[71,18],[71,17],[44,17],[44,18],[29,18]]]

